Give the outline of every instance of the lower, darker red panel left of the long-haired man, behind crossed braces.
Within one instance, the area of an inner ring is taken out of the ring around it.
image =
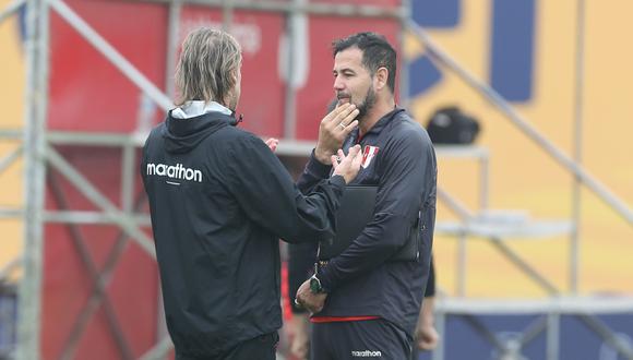
[[[71,147],[61,149],[61,153],[110,202],[119,203],[120,151]],[[55,173],[68,208],[97,209],[69,181]],[[140,184],[136,189],[141,189]],[[59,207],[51,191],[46,203],[48,208]],[[79,229],[93,261],[101,269],[120,230],[114,226],[80,226]],[[45,359],[57,359],[94,284],[65,226],[48,225],[45,238],[43,355]],[[112,273],[107,292],[123,336],[136,357],[148,350],[156,340],[157,291],[155,262],[131,241]],[[114,339],[101,308],[81,334],[75,358],[119,359],[121,356]]]

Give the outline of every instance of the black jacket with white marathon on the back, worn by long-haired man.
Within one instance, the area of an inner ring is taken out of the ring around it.
[[[331,238],[345,189],[336,176],[302,195],[231,119],[169,112],[143,148],[167,328],[182,356],[214,357],[282,326],[278,239]]]

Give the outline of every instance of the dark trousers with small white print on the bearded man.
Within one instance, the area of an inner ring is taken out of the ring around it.
[[[382,319],[312,324],[312,360],[408,360],[406,333]]]

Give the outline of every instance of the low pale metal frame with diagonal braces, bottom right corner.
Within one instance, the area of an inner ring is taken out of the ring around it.
[[[597,315],[633,314],[633,298],[578,298],[557,297],[542,300],[474,300],[443,299],[437,305],[437,326],[440,334],[446,333],[446,321],[452,317],[465,322],[499,353],[498,359],[523,359],[522,350],[537,336],[545,333],[546,360],[559,360],[561,317],[577,319],[597,338],[608,344],[618,355],[633,359],[633,343],[628,341],[611,329]],[[521,332],[502,338],[481,321],[482,315],[537,315]],[[446,338],[446,337],[443,337]],[[444,345],[440,343],[433,351],[432,360],[445,358]]]

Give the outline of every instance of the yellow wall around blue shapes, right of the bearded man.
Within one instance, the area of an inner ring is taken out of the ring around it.
[[[491,1],[462,1],[455,28],[429,31],[437,44],[478,79],[489,79]],[[537,1],[533,97],[514,108],[565,154],[573,153],[576,1]],[[633,3],[587,2],[585,40],[584,165],[633,207]],[[407,56],[423,49],[409,37]],[[482,97],[444,72],[442,82],[416,97],[413,109],[423,123],[440,106],[456,104],[476,116],[477,141],[491,154],[490,207],[527,209],[534,218],[570,218],[572,177],[523,135]],[[441,159],[439,182],[471,208],[477,199],[473,161]],[[582,193],[580,291],[633,292],[633,226],[584,188]],[[439,219],[450,218],[440,206]],[[509,241],[529,264],[569,291],[569,237]],[[437,237],[439,284],[454,293],[456,240]],[[468,241],[467,296],[541,297],[527,279],[485,239]]]

